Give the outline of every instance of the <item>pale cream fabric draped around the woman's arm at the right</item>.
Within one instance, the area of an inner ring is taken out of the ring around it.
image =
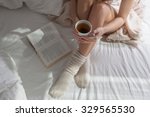
[[[110,5],[118,12],[120,4],[121,0],[113,0]],[[133,8],[126,19],[125,25],[116,32],[110,34],[107,40],[120,41],[135,46],[137,41],[140,41],[143,9],[143,3],[140,0],[134,0]]]

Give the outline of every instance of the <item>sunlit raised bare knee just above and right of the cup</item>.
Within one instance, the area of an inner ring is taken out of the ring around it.
[[[89,21],[94,28],[102,27],[116,17],[115,10],[106,3],[96,3],[90,12]]]

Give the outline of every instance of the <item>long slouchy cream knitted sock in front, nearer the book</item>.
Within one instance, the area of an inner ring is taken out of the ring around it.
[[[71,84],[71,81],[79,71],[79,68],[86,61],[86,58],[87,57],[81,55],[79,51],[73,52],[66,68],[49,91],[49,94],[52,97],[60,97],[67,91],[69,85]]]

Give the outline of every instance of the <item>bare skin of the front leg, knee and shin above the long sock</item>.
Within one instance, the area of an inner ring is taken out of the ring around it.
[[[114,10],[105,3],[95,3],[90,11],[90,15],[88,20],[92,23],[93,30],[97,27],[102,27],[106,23],[110,22],[115,18]],[[79,44],[79,52],[87,56],[95,43],[80,43]]]

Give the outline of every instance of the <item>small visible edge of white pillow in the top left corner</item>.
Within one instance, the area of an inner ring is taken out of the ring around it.
[[[0,0],[0,6],[7,7],[9,9],[17,9],[22,7],[22,0]]]

